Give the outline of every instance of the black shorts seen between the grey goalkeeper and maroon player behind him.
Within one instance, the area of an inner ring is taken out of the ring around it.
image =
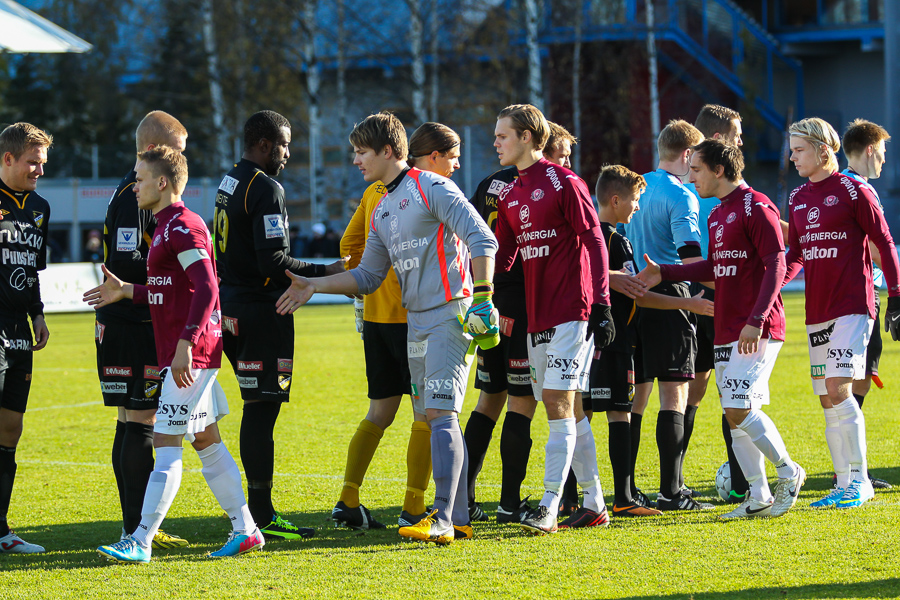
[[[528,362],[528,313],[524,291],[499,290],[494,306],[500,313],[500,343],[490,350],[478,348],[475,389],[487,394],[533,396]]]

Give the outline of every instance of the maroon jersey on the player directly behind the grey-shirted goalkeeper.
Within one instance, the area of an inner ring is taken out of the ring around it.
[[[497,269],[522,259],[528,331],[587,321],[609,306],[609,268],[600,220],[584,181],[541,159],[500,192]]]

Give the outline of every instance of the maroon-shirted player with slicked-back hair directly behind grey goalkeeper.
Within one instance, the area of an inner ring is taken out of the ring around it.
[[[575,418],[575,394],[587,387],[591,338],[602,348],[615,335],[606,247],[587,185],[542,156],[549,129],[544,115],[530,104],[500,111],[494,129],[500,164],[515,165],[519,172],[500,194],[497,264],[507,271],[517,254],[522,260],[532,387],[544,402],[550,428],[545,492],[522,521],[522,527],[536,535],[557,530],[559,502],[572,465],[584,506],[561,525],[609,524],[590,422]]]

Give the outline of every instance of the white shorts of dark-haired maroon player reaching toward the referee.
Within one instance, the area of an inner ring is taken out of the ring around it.
[[[762,338],[753,354],[738,354],[737,344],[713,349],[722,408],[758,409],[769,403],[769,376],[784,342]]]

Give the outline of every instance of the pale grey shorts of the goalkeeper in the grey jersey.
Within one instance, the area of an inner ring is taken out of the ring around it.
[[[471,363],[466,354],[471,340],[463,334],[460,316],[471,303],[469,298],[452,300],[432,310],[406,314],[413,410],[419,414],[428,408],[462,410],[469,387]]]

